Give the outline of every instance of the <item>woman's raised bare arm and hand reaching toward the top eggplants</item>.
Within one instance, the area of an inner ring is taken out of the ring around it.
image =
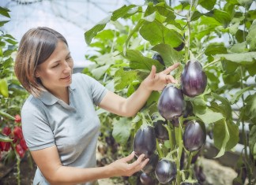
[[[176,63],[159,73],[156,73],[156,67],[152,66],[149,76],[141,82],[134,94],[130,95],[129,98],[122,98],[108,91],[100,102],[100,108],[122,117],[133,117],[145,105],[152,91],[162,91],[168,83],[176,83],[176,80],[169,73],[178,66],[179,63]]]

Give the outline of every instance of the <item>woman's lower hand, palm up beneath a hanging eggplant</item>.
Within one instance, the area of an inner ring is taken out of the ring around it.
[[[134,151],[127,157],[123,157],[110,165],[112,176],[132,176],[135,172],[140,171],[142,168],[147,165],[149,158],[145,159],[145,155],[141,154],[136,161],[128,163],[134,159]]]

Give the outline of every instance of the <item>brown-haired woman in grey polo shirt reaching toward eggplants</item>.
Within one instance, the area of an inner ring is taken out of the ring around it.
[[[38,166],[33,184],[92,184],[96,179],[131,176],[149,159],[134,152],[96,168],[100,120],[94,105],[122,117],[133,117],[152,91],[175,83],[168,75],[179,64],[149,76],[129,98],[114,94],[85,74],[72,74],[66,39],[51,28],[33,28],[21,39],[15,73],[31,94],[21,109],[24,139]],[[129,163],[130,162],[130,163]]]

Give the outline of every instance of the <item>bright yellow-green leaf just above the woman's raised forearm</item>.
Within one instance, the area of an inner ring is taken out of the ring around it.
[[[130,83],[133,83],[134,80],[137,80],[136,71],[127,71],[125,72],[123,68],[120,68],[115,72],[115,91],[122,91],[125,87],[128,87]]]

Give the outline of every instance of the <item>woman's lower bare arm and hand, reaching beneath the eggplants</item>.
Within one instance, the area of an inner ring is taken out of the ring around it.
[[[149,161],[149,159],[143,161],[144,154],[141,154],[137,161],[128,164],[134,158],[133,152],[128,157],[123,157],[104,167],[75,168],[62,165],[56,146],[31,151],[31,154],[43,176],[53,185],[85,183],[112,176],[131,176],[144,168]]]

